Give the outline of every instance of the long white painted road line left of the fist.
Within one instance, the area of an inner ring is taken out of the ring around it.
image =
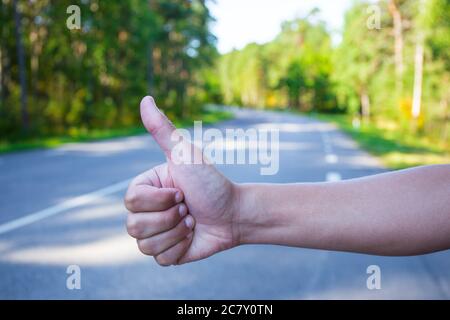
[[[41,210],[41,211],[38,211],[35,213],[31,213],[24,217],[1,224],[0,225],[0,234],[24,227],[26,225],[40,221],[42,219],[60,214],[69,209],[73,209],[75,207],[79,207],[79,206],[88,204],[89,202],[95,201],[104,196],[116,193],[120,190],[125,189],[128,186],[129,182],[130,182],[130,180],[127,179],[125,181],[110,185],[106,188],[102,188],[102,189],[99,189],[99,190],[96,190],[96,191],[93,191],[90,193],[83,194],[81,196],[64,201],[55,206],[46,208],[44,210]]]

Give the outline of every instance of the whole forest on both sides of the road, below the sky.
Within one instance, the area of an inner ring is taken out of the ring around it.
[[[449,148],[450,1],[354,1],[336,35],[318,10],[220,55],[207,0],[1,0],[1,140],[139,125],[205,104],[346,114]],[[250,18],[251,19],[251,18]]]

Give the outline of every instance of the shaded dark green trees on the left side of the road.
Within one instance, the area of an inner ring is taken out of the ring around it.
[[[200,76],[217,56],[206,0],[0,0],[2,140],[133,127],[142,96],[152,94],[174,119],[198,113],[210,98]],[[81,9],[69,30],[66,9]],[[24,130],[16,46],[23,44]]]

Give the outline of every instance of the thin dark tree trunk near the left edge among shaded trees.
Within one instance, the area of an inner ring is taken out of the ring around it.
[[[25,132],[28,131],[28,109],[27,109],[27,86],[26,86],[26,72],[25,72],[25,52],[22,43],[21,32],[21,15],[17,9],[17,0],[13,1],[16,43],[17,43],[17,60],[19,62],[19,79],[20,79],[20,110],[22,116],[22,128]]]

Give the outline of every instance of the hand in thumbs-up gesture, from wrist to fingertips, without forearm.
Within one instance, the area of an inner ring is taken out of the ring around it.
[[[125,206],[131,211],[127,230],[137,239],[140,251],[167,266],[203,259],[237,245],[236,185],[212,165],[173,161],[175,127],[152,97],[142,99],[141,117],[167,162],[137,176],[125,196]],[[201,150],[194,148],[194,152]]]

